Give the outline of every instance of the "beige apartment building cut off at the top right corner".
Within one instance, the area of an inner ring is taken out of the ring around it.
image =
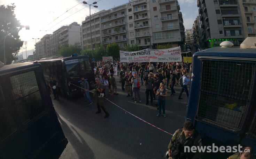
[[[256,0],[240,0],[244,36],[256,35]]]

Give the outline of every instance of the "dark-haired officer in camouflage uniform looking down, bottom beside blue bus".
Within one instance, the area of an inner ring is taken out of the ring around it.
[[[184,152],[185,146],[201,146],[202,139],[199,133],[194,130],[191,121],[186,121],[183,128],[175,131],[168,145],[169,159],[198,159],[199,153]]]

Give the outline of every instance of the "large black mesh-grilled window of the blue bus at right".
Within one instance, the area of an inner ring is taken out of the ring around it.
[[[254,74],[254,63],[204,60],[197,118],[239,131],[251,100]]]

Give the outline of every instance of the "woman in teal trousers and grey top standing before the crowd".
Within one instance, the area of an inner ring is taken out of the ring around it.
[[[167,89],[164,88],[164,83],[160,83],[159,89],[156,91],[156,95],[158,96],[158,105],[159,105],[159,113],[156,116],[161,116],[161,110],[163,108],[163,116],[166,117],[165,115],[165,97],[168,96],[167,94]]]

